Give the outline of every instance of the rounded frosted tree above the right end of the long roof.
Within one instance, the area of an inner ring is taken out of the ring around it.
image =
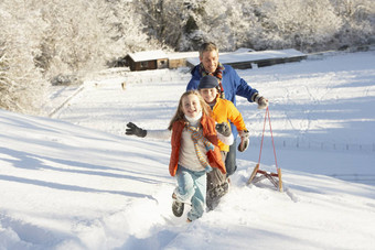
[[[309,51],[330,42],[341,26],[330,0],[265,1],[260,10],[262,31],[256,48]]]

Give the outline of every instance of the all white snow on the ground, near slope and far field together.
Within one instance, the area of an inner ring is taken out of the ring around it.
[[[0,110],[0,249],[372,249],[374,55],[238,70],[270,100],[285,192],[246,185],[265,111],[238,98],[250,146],[217,209],[191,224],[171,211],[169,141],[124,134],[128,121],[168,127],[188,69],[93,75],[53,89],[52,118]],[[260,169],[275,171],[265,135]]]

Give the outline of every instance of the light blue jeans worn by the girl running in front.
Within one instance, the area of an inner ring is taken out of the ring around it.
[[[192,209],[188,213],[188,219],[194,220],[202,217],[206,199],[206,172],[191,171],[179,165],[178,178],[178,200],[192,204]]]

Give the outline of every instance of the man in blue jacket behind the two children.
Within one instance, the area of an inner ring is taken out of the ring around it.
[[[188,84],[186,90],[197,89],[200,80],[205,75],[213,75],[219,81],[221,97],[231,100],[236,105],[236,95],[245,97],[249,102],[258,104],[258,109],[265,109],[268,107],[268,100],[260,96],[258,90],[251,88],[243,78],[240,78],[237,72],[229,65],[223,65],[218,62],[218,48],[214,43],[204,43],[200,47],[200,61],[201,63],[192,69],[192,78]],[[237,137],[237,130],[232,124],[232,131],[234,138]],[[248,145],[248,132],[242,133],[242,142],[238,150],[244,151]],[[244,145],[246,144],[247,145]],[[236,140],[229,146],[229,152],[225,160],[225,167],[227,176],[232,175],[236,169]]]

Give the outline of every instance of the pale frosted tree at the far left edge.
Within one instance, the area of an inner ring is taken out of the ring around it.
[[[35,112],[46,87],[34,56],[43,24],[30,1],[0,2],[0,108]]]

